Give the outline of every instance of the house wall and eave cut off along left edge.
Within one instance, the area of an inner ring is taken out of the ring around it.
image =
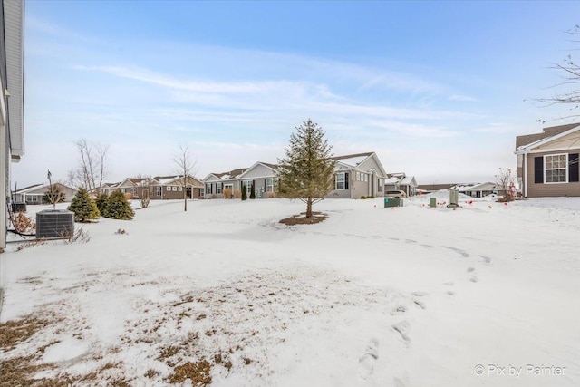
[[[6,247],[10,164],[24,156],[24,0],[0,2],[0,253]],[[1,290],[1,289],[0,289]],[[0,292],[1,293],[1,292]]]

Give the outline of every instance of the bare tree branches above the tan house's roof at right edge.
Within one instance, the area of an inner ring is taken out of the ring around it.
[[[566,34],[580,36],[580,25],[576,24],[574,28],[566,31]],[[575,44],[580,43],[580,40],[573,39]],[[537,98],[534,101],[545,103],[548,106],[555,104],[570,105],[570,111],[575,111],[580,107],[580,90],[578,84],[580,83],[580,64],[576,63],[571,54],[568,54],[562,63],[551,63],[548,67],[556,70],[560,74],[560,82],[557,82],[552,88],[564,90],[563,92],[556,92],[553,97]],[[568,116],[562,117],[571,118],[577,117],[578,114],[571,113]],[[538,120],[545,123],[543,120]]]

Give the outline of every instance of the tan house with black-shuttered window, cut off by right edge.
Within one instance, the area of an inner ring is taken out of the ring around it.
[[[580,124],[517,136],[515,154],[524,198],[580,196]]]

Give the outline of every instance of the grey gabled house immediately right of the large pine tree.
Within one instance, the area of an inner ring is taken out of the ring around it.
[[[326,198],[384,196],[387,173],[374,152],[334,156],[334,189]]]

